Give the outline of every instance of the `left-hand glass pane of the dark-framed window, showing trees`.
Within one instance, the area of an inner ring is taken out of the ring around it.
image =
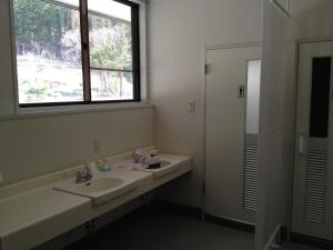
[[[82,101],[78,9],[41,0],[14,0],[13,7],[19,102]]]

